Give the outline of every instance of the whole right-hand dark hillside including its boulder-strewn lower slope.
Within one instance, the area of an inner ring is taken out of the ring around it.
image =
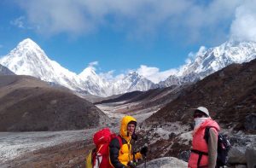
[[[194,123],[192,108],[204,106],[224,134],[230,136],[232,147],[242,149],[239,154],[244,158],[256,138],[255,74],[256,60],[232,64],[184,88],[176,99],[143,122],[137,147],[148,143],[148,159],[172,156],[188,161]],[[230,160],[230,165],[237,164],[238,159],[233,160],[236,161]]]

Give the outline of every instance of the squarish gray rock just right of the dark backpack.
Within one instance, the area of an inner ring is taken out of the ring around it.
[[[245,157],[246,148],[242,147],[233,147],[230,148],[229,152],[229,164],[246,164],[247,160]]]

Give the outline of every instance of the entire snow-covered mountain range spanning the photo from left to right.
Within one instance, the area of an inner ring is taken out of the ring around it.
[[[256,43],[229,41],[211,49],[201,48],[195,58],[177,69],[177,73],[154,84],[138,72],[131,72],[124,78],[108,80],[102,78],[92,67],[86,67],[76,74],[61,67],[56,61],[51,61],[37,43],[26,38],[0,59],[0,64],[18,75],[30,75],[44,81],[61,84],[78,94],[90,93],[96,96],[112,96],[135,90],[150,90],[193,83],[207,77],[231,63],[242,63],[256,58]]]

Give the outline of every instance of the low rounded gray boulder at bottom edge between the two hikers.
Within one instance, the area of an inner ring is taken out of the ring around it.
[[[170,168],[170,167],[176,167],[176,168],[183,168],[188,167],[188,163],[184,162],[181,159],[173,158],[173,157],[164,157],[160,159],[153,159],[146,163],[147,168]],[[138,165],[137,168],[143,168],[144,164]]]

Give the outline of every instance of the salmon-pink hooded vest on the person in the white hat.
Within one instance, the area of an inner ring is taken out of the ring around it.
[[[218,138],[218,131],[220,130],[220,128],[216,121],[209,118],[205,122],[203,122],[197,130],[194,131],[193,140],[192,140],[192,149],[208,154],[209,153],[208,147],[211,144],[207,144],[206,140],[204,139],[205,130],[207,127],[211,127],[210,130],[213,132],[213,134],[216,134],[216,136],[214,136],[214,137]],[[217,143],[217,139],[214,142]],[[216,149],[217,149],[217,144],[216,144]],[[208,155],[212,155],[212,154],[208,154]],[[217,155],[217,154],[215,154],[215,155]],[[191,167],[191,168],[198,167],[197,166],[198,159],[199,159],[199,154],[195,154],[194,152],[192,152],[190,154],[190,158],[189,158],[189,167]],[[208,167],[208,165],[209,165],[208,160],[209,160],[208,156],[205,154],[202,154],[201,161],[199,164],[200,167]]]

